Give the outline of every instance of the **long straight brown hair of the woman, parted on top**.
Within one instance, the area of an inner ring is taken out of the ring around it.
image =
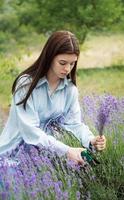
[[[16,84],[19,78],[22,75],[29,75],[32,78],[29,90],[25,98],[17,103],[16,105],[23,104],[24,109],[26,108],[26,102],[31,95],[33,89],[37,85],[39,79],[47,75],[47,72],[50,69],[51,63],[55,56],[58,54],[76,54],[79,57],[79,42],[75,35],[69,31],[56,31],[54,32],[49,39],[47,40],[39,58],[32,64],[29,68],[21,72],[18,77],[15,79],[12,86],[12,94],[16,91]],[[71,78],[72,82],[76,85],[76,68],[77,62],[67,78]]]

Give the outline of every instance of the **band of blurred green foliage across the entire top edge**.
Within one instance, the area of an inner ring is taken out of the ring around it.
[[[121,0],[9,0],[0,3],[0,30],[17,40],[27,33],[51,33],[67,29],[80,42],[90,30],[109,30],[118,23],[123,29],[124,3]],[[27,29],[27,30],[26,30]]]

